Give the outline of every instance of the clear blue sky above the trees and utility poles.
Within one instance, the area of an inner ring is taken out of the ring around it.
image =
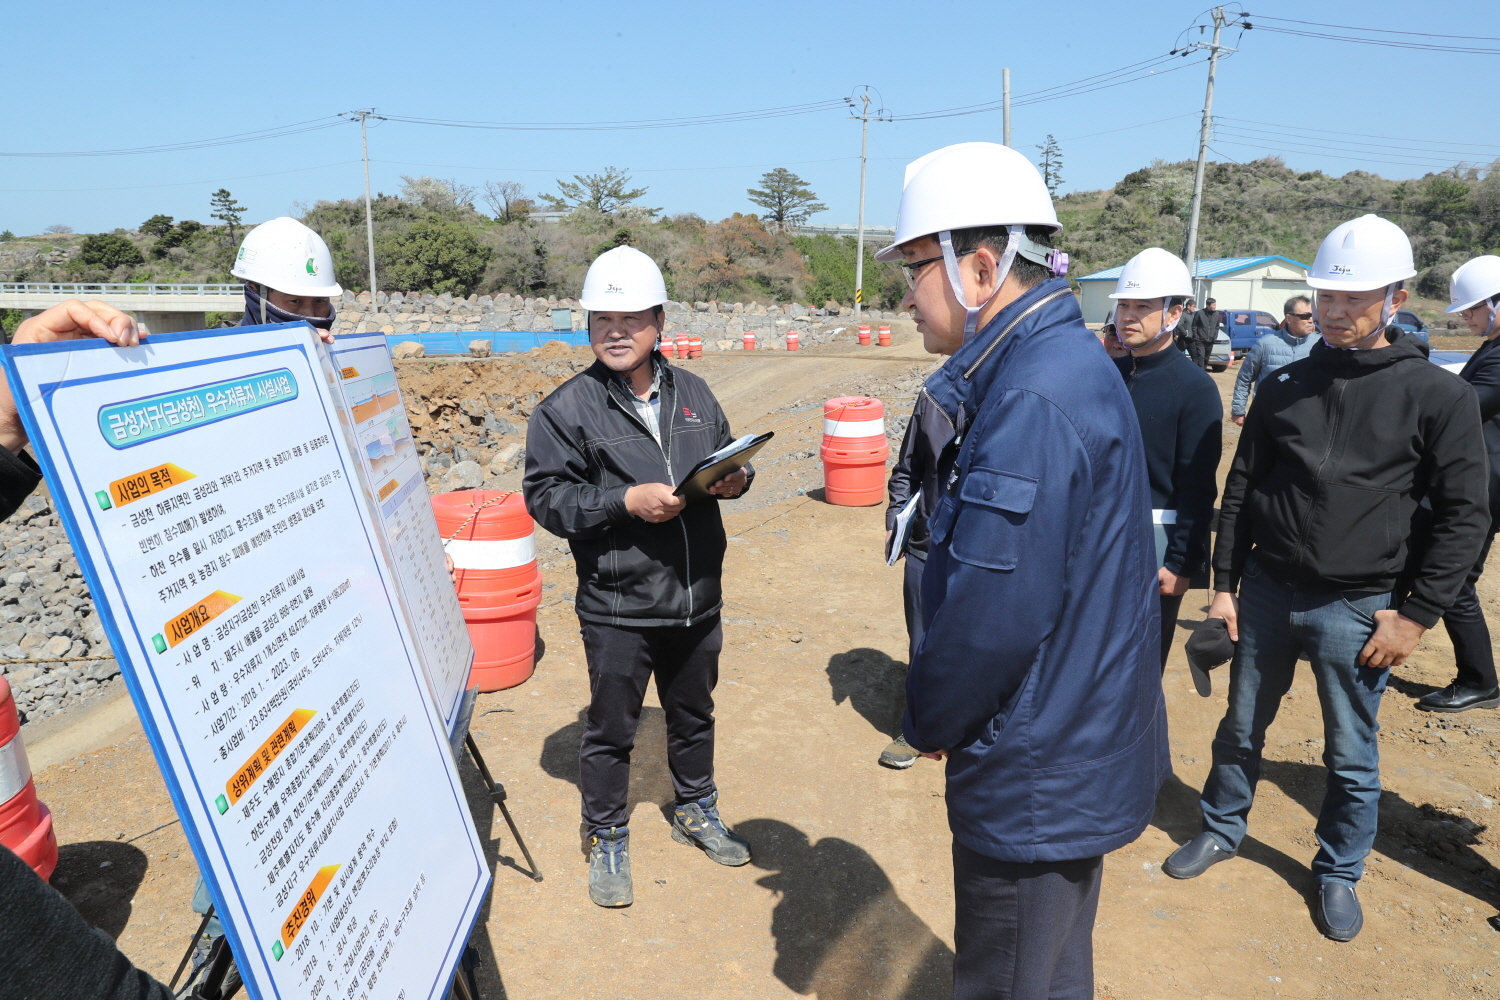
[[[6,12],[0,151],[154,145],[286,126],[339,111],[478,121],[670,118],[818,100],[860,84],[897,115],[999,100],[1164,54],[1197,3],[758,4],[256,3],[12,4]],[[1488,3],[1258,0],[1256,13],[1365,27],[1500,36]],[[1420,21],[1413,21],[1420,10]],[[1233,43],[1236,33],[1226,42]],[[1250,31],[1221,61],[1218,154],[1281,151],[1298,169],[1420,177],[1500,156],[1500,55],[1404,51]],[[1179,58],[1162,69],[1198,58]],[[1197,153],[1204,66],[1018,106],[1014,145],[1052,133],[1064,189],[1108,186],[1155,157]],[[1290,130],[1298,132],[1293,135]],[[1348,133],[1330,147],[1318,133]],[[903,165],[939,145],[1000,136],[1000,114],[870,124],[867,220],[896,219]],[[1389,138],[1366,138],[1389,136]],[[746,187],[788,166],[854,222],[860,126],[837,109],[699,127],[609,132],[370,129],[376,190],[400,174],[471,184],[630,168],[645,202],[718,219],[748,211]],[[1364,145],[1352,145],[1362,142]],[[1466,142],[1467,145],[1455,145]],[[1488,144],[1488,145],[1486,145]],[[1467,153],[1467,156],[1464,156]],[[162,211],[208,220],[225,186],[249,220],[363,190],[358,127],[138,156],[0,157],[0,229],[134,228]]]

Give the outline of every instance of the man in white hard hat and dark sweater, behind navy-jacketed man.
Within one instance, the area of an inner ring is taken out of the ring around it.
[[[1116,364],[1130,388],[1146,447],[1160,567],[1162,670],[1178,631],[1182,595],[1190,586],[1209,583],[1209,523],[1222,447],[1224,405],[1218,387],[1172,342],[1191,291],[1188,265],[1154,246],[1125,264],[1110,295],[1116,300],[1116,336],[1130,351]],[[1208,697],[1208,675],[1194,670],[1192,681],[1198,694]]]

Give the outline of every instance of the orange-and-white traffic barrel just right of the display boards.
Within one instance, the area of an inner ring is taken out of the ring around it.
[[[432,511],[474,643],[470,684],[480,691],[513,688],[537,666],[542,573],[531,514],[520,493],[500,490],[438,493]]]

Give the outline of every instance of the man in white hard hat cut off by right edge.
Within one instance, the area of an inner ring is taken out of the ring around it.
[[[1484,420],[1485,451],[1490,456],[1490,531],[1479,549],[1479,559],[1458,598],[1443,615],[1443,628],[1454,640],[1458,676],[1446,688],[1418,699],[1425,712],[1467,712],[1474,708],[1500,708],[1500,685],[1496,682],[1496,654],[1490,645],[1485,609],[1479,603],[1476,585],[1485,571],[1490,546],[1500,528],[1500,256],[1476,256],[1449,280],[1449,313],[1458,313],[1468,331],[1480,337],[1479,349],[1470,355],[1458,373],[1474,387],[1479,397],[1479,418]]]

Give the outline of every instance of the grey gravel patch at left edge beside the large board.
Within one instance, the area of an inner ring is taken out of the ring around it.
[[[0,523],[0,673],[21,723],[56,715],[120,673],[45,490]]]

